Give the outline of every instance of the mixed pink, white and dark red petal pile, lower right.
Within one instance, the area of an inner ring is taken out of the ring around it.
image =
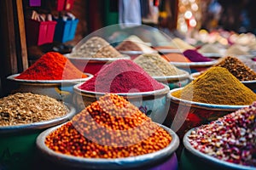
[[[195,128],[189,143],[220,160],[256,167],[256,102]]]

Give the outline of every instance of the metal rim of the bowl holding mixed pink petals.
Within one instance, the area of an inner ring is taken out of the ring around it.
[[[184,134],[183,136],[183,144],[185,149],[189,150],[189,152],[191,152],[193,155],[200,157],[201,159],[206,159],[207,161],[213,162],[215,164],[219,164],[221,166],[224,166],[226,168],[232,168],[232,169],[245,169],[245,170],[249,170],[249,169],[254,169],[255,167],[249,167],[249,166],[243,166],[240,164],[235,164],[235,163],[231,163],[228,161],[223,161],[220,160],[218,158],[215,158],[213,156],[209,156],[207,154],[202,153],[199,150],[196,150],[190,143],[189,143],[189,134],[195,130],[198,127],[194,127],[191,128],[187,133]]]

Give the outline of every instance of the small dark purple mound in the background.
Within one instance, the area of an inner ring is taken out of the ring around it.
[[[207,62],[212,61],[212,59],[203,56],[202,54],[198,53],[194,49],[187,49],[183,52],[183,55],[187,57],[192,62]]]

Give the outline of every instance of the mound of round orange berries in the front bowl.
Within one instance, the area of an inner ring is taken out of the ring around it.
[[[172,136],[126,99],[106,94],[50,133],[55,152],[86,158],[141,156],[166,148]]]

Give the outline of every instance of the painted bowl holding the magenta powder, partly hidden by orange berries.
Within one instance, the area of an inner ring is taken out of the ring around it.
[[[79,87],[83,83],[75,85],[73,103],[79,110],[83,110],[86,106],[96,101],[106,93],[91,92],[80,89]],[[166,99],[166,95],[170,92],[170,88],[163,84],[164,88],[149,92],[141,93],[124,93],[118,94],[129,100],[131,104],[136,105],[140,111],[151,117],[152,121],[163,123],[166,119],[167,112],[169,110],[169,100]]]

